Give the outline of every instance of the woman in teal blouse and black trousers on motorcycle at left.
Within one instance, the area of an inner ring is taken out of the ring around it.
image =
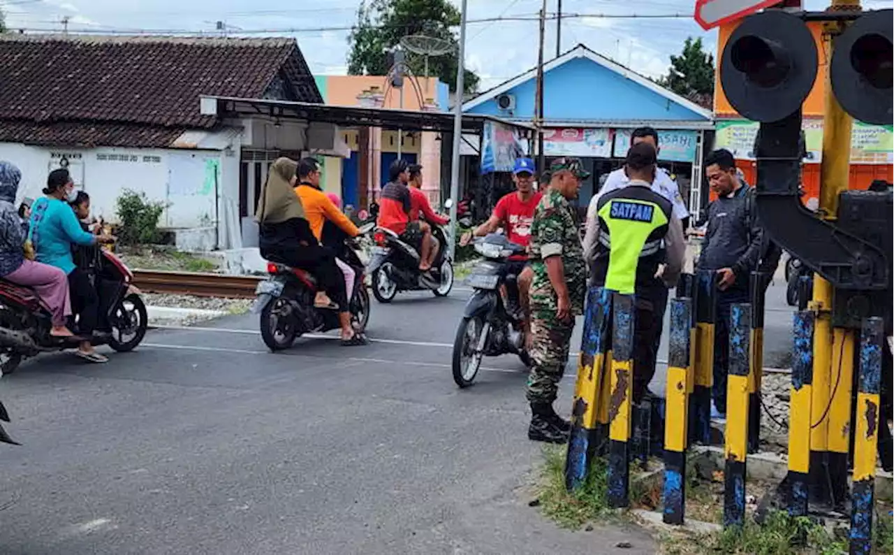
[[[97,326],[99,298],[89,276],[74,264],[72,243],[112,243],[114,237],[92,235],[80,228],[78,218],[67,202],[77,195],[67,169],[50,172],[44,194],[46,197],[38,199],[31,207],[31,243],[34,244],[38,262],[62,269],[68,275],[72,312],[78,315],[78,334],[92,337]],[[75,354],[91,363],[108,361],[105,356],[96,352],[89,340],[81,342]]]

